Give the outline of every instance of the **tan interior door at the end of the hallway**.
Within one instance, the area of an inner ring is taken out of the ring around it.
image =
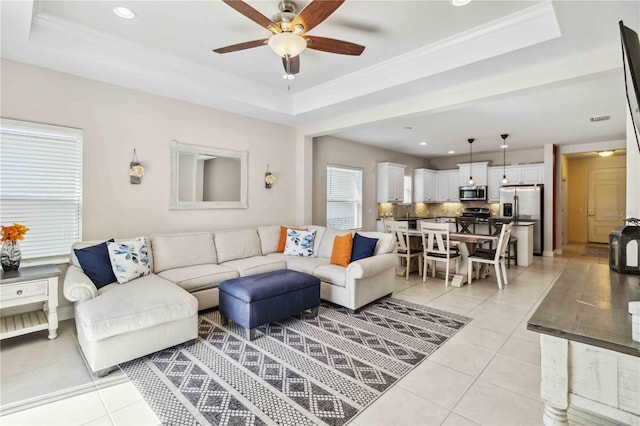
[[[623,167],[587,171],[587,241],[608,243],[609,233],[624,225],[626,176]]]

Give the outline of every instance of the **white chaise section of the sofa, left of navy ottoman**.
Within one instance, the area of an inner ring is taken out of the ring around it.
[[[194,340],[198,301],[151,274],[103,287],[98,297],[77,303],[76,329],[89,366],[104,375],[122,362]]]

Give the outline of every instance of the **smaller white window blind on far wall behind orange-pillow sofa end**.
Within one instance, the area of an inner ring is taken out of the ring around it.
[[[327,226],[362,228],[362,170],[327,166]]]

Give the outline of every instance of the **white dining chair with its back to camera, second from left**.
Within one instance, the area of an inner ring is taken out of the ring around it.
[[[422,247],[424,249],[424,267],[422,271],[422,282],[427,280],[429,261],[433,263],[431,276],[436,276],[436,262],[445,263],[444,285],[449,285],[450,261],[453,260],[456,266],[456,274],[460,272],[460,253],[450,248],[449,224],[420,222],[420,232],[422,233]]]

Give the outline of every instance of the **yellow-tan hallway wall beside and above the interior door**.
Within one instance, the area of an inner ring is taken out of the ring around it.
[[[587,171],[613,167],[626,168],[626,155],[608,158],[570,158],[566,165],[567,180],[567,240],[569,242],[587,242]]]

